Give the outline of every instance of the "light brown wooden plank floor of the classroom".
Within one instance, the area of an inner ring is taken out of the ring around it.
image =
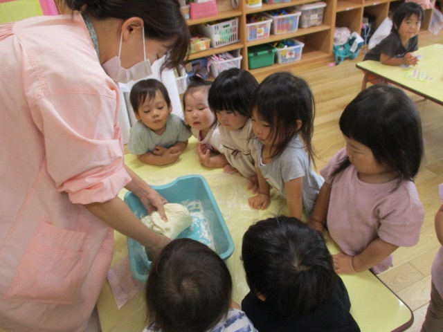
[[[438,35],[420,35],[421,46],[435,43],[443,44],[443,31]],[[338,129],[338,118],[346,104],[360,91],[363,74],[355,64],[362,59],[363,52],[356,59],[346,59],[338,66],[317,64],[306,69],[293,70],[294,74],[309,82],[316,98],[314,147],[319,155],[316,162],[318,169],[338,149],[344,147]],[[257,77],[259,80],[262,78]],[[408,95],[416,102],[422,116],[426,158],[415,183],[426,209],[426,216],[417,246],[399,248],[394,254],[395,267],[382,273],[380,277],[413,310],[415,322],[408,331],[420,331],[429,301],[431,265],[440,246],[435,236],[433,219],[440,206],[437,186],[443,183],[443,107],[412,93]]]

